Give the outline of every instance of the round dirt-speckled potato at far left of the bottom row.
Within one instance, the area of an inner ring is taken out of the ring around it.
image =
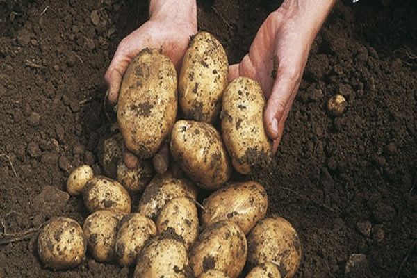
[[[38,255],[47,268],[63,270],[81,263],[87,243],[81,226],[71,218],[51,218],[40,230]]]

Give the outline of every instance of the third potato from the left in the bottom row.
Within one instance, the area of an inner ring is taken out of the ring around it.
[[[122,266],[131,265],[149,238],[156,234],[154,221],[140,213],[124,215],[117,228],[115,253]]]

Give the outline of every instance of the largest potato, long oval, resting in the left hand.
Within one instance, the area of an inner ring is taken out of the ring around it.
[[[177,117],[177,72],[167,56],[143,49],[123,76],[117,122],[124,143],[140,158],[156,154]]]

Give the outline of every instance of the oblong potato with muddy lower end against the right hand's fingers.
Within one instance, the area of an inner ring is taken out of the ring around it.
[[[272,142],[263,128],[265,97],[259,83],[238,77],[224,90],[222,137],[231,163],[240,174],[267,166]]]

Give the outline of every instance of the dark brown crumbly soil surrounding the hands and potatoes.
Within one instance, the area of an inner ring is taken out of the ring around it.
[[[65,190],[72,167],[97,164],[98,142],[111,133],[103,75],[117,43],[147,19],[142,2],[0,1],[0,231],[39,227],[51,216],[42,209],[49,206],[33,205],[42,189]],[[202,1],[199,27],[217,35],[236,63],[277,6]],[[297,277],[343,277],[356,253],[368,260],[356,256],[358,265],[369,265],[356,273],[395,277],[401,267],[399,277],[416,277],[416,14],[411,0],[338,3],[313,45],[279,152],[254,176],[266,187],[270,212],[300,233]],[[336,92],[348,106],[334,118],[325,106]],[[80,223],[87,216],[81,197],[63,196],[56,206],[57,215]],[[132,272],[90,257],[51,272],[33,243],[35,234],[0,245],[1,278]]]

